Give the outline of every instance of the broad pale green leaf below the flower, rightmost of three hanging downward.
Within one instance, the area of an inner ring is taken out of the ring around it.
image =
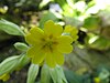
[[[54,83],[67,83],[63,69],[61,66],[50,69],[50,73]]]

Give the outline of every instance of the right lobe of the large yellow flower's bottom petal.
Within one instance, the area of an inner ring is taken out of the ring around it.
[[[59,65],[64,64],[63,53],[56,51],[55,53],[53,53],[53,58],[55,59],[57,64],[59,64]]]

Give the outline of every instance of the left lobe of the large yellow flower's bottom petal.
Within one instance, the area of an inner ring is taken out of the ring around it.
[[[51,68],[55,68],[56,62],[52,53],[46,53],[46,64]]]

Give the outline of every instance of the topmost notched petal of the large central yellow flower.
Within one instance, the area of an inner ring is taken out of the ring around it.
[[[61,35],[63,32],[63,28],[59,24],[55,24],[52,20],[47,21],[44,24],[44,32],[47,35]]]

